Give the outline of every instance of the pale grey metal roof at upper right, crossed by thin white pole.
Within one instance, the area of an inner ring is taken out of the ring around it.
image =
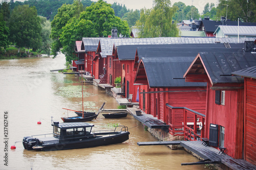
[[[238,36],[238,26],[219,26],[214,34],[221,31],[224,35]],[[240,36],[256,36],[256,26],[239,26]]]

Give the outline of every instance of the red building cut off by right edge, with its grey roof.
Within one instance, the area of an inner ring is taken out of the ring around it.
[[[256,66],[232,75],[244,77],[244,159],[256,165]]]

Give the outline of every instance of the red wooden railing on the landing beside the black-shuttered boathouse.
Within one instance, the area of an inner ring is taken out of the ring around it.
[[[205,136],[204,114],[186,107],[173,107],[169,104],[166,107],[170,134],[184,133],[185,140],[197,140]]]

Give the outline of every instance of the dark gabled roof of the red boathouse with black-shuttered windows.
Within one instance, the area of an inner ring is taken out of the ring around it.
[[[256,54],[252,53],[199,53],[183,77],[205,75],[211,85],[217,83],[243,83],[244,79],[231,73],[256,65]]]

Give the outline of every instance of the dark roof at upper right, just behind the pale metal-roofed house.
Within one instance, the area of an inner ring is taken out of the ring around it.
[[[203,26],[206,32],[214,33],[218,26],[238,26],[238,21],[202,20],[199,29]],[[256,22],[239,22],[239,26],[256,26]]]

